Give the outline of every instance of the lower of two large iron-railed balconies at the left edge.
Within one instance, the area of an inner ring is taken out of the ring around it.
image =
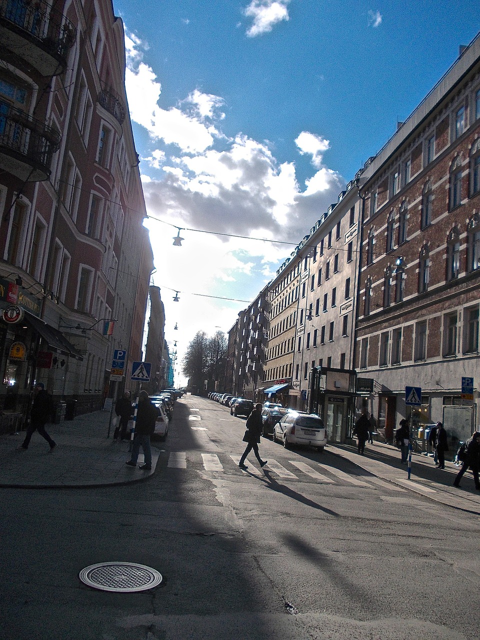
[[[58,148],[60,134],[44,122],[13,107],[0,113],[0,168],[4,171],[27,182],[47,180]]]

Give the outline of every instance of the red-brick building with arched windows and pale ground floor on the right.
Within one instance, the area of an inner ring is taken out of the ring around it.
[[[480,36],[365,176],[355,365],[374,387],[364,404],[389,434],[410,416],[405,387],[420,387],[415,426],[441,420],[456,444],[479,404]]]

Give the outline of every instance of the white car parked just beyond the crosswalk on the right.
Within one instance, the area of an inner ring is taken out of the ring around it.
[[[323,451],[326,445],[326,428],[316,413],[290,411],[273,428],[273,440],[281,442],[285,449],[303,444]]]

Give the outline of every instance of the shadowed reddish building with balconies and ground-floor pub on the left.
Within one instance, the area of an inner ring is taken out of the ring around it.
[[[141,356],[153,256],[108,0],[0,3],[0,405],[35,381],[86,412]]]

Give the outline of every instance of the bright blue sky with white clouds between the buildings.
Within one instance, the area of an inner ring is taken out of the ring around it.
[[[196,332],[227,333],[275,278],[480,31],[480,3],[113,4],[180,386]]]

